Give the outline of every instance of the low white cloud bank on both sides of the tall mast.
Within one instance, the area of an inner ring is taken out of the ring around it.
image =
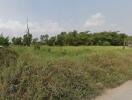
[[[50,35],[61,32],[64,29],[57,22],[29,22],[30,30],[33,35],[38,36],[42,33],[50,33]],[[26,31],[26,23],[17,20],[4,21],[0,19],[0,32],[9,36],[20,36]]]

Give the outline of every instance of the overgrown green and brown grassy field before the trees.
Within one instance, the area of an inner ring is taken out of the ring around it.
[[[12,46],[9,49],[15,52],[17,60],[0,64],[0,100],[91,100],[104,89],[132,78],[132,48],[43,46],[36,50]],[[0,55],[0,60],[4,57]],[[9,59],[7,56],[4,62]]]

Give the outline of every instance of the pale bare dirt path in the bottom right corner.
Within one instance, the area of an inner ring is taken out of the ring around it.
[[[118,88],[107,90],[95,100],[132,100],[132,81],[128,81]]]

